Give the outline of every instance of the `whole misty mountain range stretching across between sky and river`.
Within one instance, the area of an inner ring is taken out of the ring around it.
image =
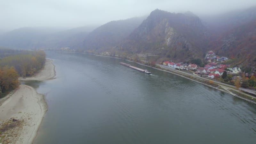
[[[256,7],[211,17],[156,9],[148,17],[110,21],[99,27],[20,28],[2,35],[0,32],[0,46],[151,53],[180,61],[203,59],[205,52],[214,50],[216,54],[232,58],[236,65],[254,67],[255,21]]]

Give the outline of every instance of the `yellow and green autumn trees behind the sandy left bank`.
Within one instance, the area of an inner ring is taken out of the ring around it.
[[[45,64],[44,51],[27,51],[28,54],[16,54],[0,60],[0,96],[19,86],[20,76],[32,76]]]

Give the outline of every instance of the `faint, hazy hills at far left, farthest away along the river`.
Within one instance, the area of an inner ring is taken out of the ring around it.
[[[93,28],[64,31],[58,28],[19,28],[0,35],[0,46],[18,49],[69,47],[82,41]]]

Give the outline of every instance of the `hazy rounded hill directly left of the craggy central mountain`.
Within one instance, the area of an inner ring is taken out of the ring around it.
[[[115,47],[137,28],[145,17],[135,17],[126,20],[110,21],[96,29],[75,47],[85,50],[107,50]]]

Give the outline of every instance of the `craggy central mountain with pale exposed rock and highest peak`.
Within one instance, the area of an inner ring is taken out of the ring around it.
[[[207,36],[201,20],[191,12],[156,9],[118,47],[132,53],[160,52],[170,58],[202,57]]]

